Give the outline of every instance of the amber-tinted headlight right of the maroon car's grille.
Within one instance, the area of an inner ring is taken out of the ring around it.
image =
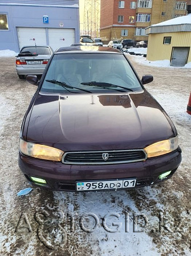
[[[178,136],[162,140],[144,148],[148,157],[161,156],[178,148]]]

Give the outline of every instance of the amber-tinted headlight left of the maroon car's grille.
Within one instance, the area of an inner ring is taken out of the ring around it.
[[[20,149],[24,155],[52,161],[61,161],[63,151],[46,145],[35,144],[20,139]]]

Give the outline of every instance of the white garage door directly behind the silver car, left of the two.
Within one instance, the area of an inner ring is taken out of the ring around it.
[[[46,29],[38,27],[18,27],[19,48],[25,45],[47,45]]]

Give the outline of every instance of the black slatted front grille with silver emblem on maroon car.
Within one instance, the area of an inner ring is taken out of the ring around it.
[[[123,164],[144,161],[147,155],[143,149],[113,151],[66,152],[64,164]],[[105,160],[104,160],[105,159]]]

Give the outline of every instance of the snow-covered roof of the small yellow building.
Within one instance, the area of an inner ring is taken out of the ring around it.
[[[191,14],[157,23],[147,27],[145,31],[147,34],[191,31]]]

